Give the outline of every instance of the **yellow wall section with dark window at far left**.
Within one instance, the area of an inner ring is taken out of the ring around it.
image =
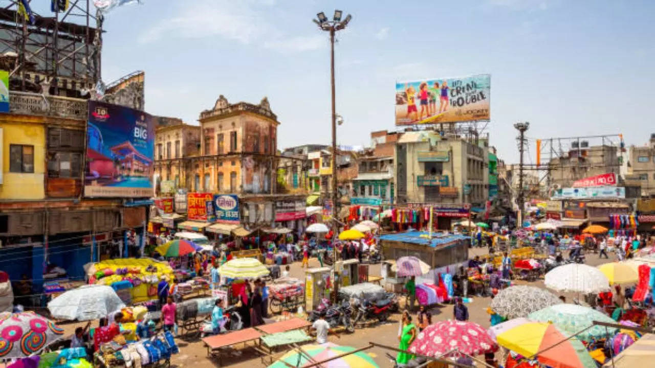
[[[45,126],[43,117],[0,115],[2,135],[1,200],[45,198]]]

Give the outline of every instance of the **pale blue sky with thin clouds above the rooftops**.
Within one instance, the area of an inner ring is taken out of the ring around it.
[[[331,142],[329,39],[320,11],[352,14],[335,46],[340,145],[393,130],[396,81],[491,74],[490,143],[655,133],[654,1],[142,0],[105,18],[105,83],[145,71],[145,108],[198,124],[220,94],[259,103],[278,147]],[[534,156],[534,145],[530,147]]]

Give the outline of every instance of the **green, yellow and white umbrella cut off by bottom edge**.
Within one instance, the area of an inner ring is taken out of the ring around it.
[[[287,354],[284,354],[276,362],[269,365],[268,368],[288,368],[291,367],[305,367],[313,365],[316,361],[324,361],[325,359],[335,358],[349,352],[356,350],[351,346],[340,346],[332,342],[325,344],[310,344],[298,346]],[[309,358],[310,357],[310,358]],[[320,367],[323,368],[379,368],[379,365],[373,361],[365,352],[354,352],[352,354],[341,356],[341,358],[332,359],[321,363]]]

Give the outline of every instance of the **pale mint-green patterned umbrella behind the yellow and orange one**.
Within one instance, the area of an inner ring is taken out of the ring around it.
[[[612,318],[597,310],[578,304],[555,304],[532,312],[528,315],[528,318],[533,321],[555,323],[555,326],[561,331],[571,335],[579,333],[576,336],[584,341],[606,337],[607,331],[609,331],[610,335],[616,333],[615,328],[606,330],[603,326],[593,325],[594,321],[615,323]],[[584,329],[586,330],[580,333]]]

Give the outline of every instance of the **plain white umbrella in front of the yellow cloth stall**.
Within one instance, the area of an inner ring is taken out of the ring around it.
[[[48,310],[53,318],[90,321],[106,317],[124,306],[110,286],[83,285],[52,299]]]

